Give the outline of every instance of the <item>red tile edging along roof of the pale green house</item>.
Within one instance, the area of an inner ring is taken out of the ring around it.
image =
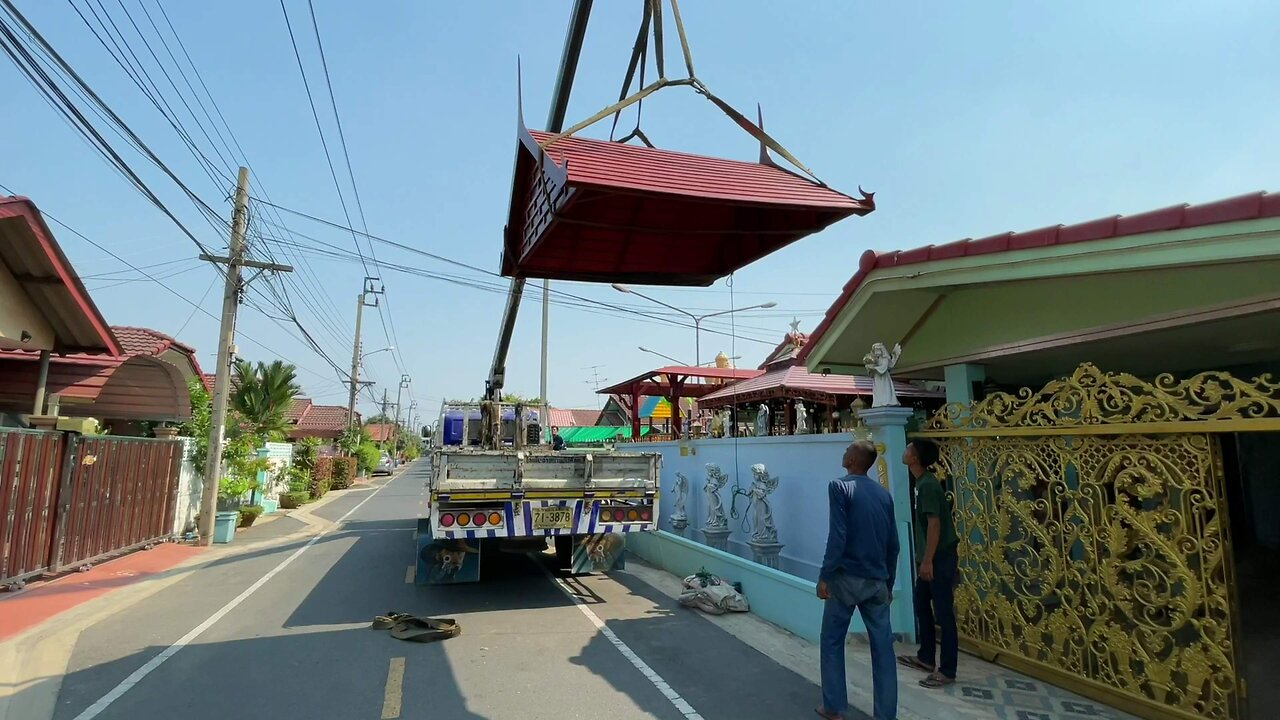
[[[1138,213],[1137,215],[1111,215],[1110,218],[1098,218],[1073,225],[1048,225],[1033,231],[1006,232],[978,240],[964,238],[945,245],[925,245],[914,250],[895,250],[892,252],[868,250],[858,260],[858,272],[854,273],[854,277],[849,278],[840,297],[827,309],[827,314],[823,316],[822,323],[818,324],[818,328],[810,333],[809,343],[800,351],[800,359],[804,360],[809,356],[809,352],[813,351],[831,328],[831,324],[836,322],[836,316],[840,315],[845,305],[858,292],[867,275],[878,268],[897,268],[929,260],[993,255],[1014,250],[1092,242],[1114,237],[1216,225],[1260,218],[1280,218],[1280,195],[1260,191],[1198,205],[1184,202],[1181,205],[1170,205],[1158,210]]]

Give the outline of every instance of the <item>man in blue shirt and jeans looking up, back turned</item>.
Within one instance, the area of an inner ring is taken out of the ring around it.
[[[876,446],[858,441],[845,450],[849,473],[831,480],[831,532],[818,574],[822,612],[822,706],[818,715],[837,720],[849,707],[845,676],[845,637],[856,607],[867,625],[872,650],[872,691],[876,720],[897,717],[897,666],[888,606],[897,570],[897,527],[893,496],[867,477],[876,462]]]

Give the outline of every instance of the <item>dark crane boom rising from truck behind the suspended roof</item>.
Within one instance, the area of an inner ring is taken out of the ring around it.
[[[586,37],[586,20],[590,15],[591,0],[573,1],[568,31],[564,33],[564,51],[561,54],[559,73],[556,76],[556,91],[547,114],[548,132],[564,129],[564,114],[568,110],[568,97],[573,91],[573,77],[577,74],[577,60],[582,55],[582,38]],[[502,389],[507,383],[507,352],[511,350],[511,338],[516,332],[516,318],[520,315],[520,301],[524,295],[525,278],[512,278],[511,288],[507,291],[507,307],[502,313],[502,324],[498,325],[498,346],[494,348],[489,379],[484,388],[483,445],[489,448],[497,448],[500,442],[498,432],[500,413],[495,404],[502,400]]]

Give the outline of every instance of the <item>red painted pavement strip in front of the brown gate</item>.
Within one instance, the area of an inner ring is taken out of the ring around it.
[[[69,573],[47,583],[27,585],[18,593],[0,594],[0,642],[116,588],[164,573],[204,550],[161,543],[95,565],[88,573]]]

